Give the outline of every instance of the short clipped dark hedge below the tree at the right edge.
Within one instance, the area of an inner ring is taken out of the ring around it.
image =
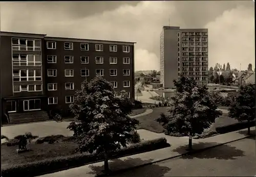
[[[250,127],[254,127],[255,126],[255,120],[251,120],[249,125],[250,125]],[[216,127],[216,131],[218,133],[228,133],[228,132],[233,132],[233,131],[246,129],[246,128],[248,128],[248,121],[242,121],[242,122],[237,122],[237,123],[233,123],[233,124],[230,124],[230,125]]]

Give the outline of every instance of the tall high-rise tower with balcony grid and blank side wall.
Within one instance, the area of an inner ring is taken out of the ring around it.
[[[160,34],[160,83],[173,88],[183,74],[207,84],[208,30],[164,26]]]

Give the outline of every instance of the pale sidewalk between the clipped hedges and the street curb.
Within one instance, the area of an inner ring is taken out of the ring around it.
[[[255,127],[251,128],[251,131],[255,130]],[[209,147],[214,147],[229,143],[231,141],[236,141],[242,138],[246,138],[247,135],[241,134],[239,132],[247,131],[247,129],[230,132],[226,134],[221,134],[205,139],[193,139],[193,148],[195,150],[205,149]],[[142,165],[152,164],[158,161],[163,161],[166,159],[179,157],[187,153],[185,150],[187,148],[188,138],[180,138],[179,143],[173,142],[170,147],[163,149],[158,149],[150,151],[147,153],[137,154],[133,156],[122,157],[119,159],[113,159],[109,161],[109,167],[113,171],[124,170],[127,168],[138,167]],[[88,164],[77,168],[71,168],[68,170],[63,170],[55,173],[41,175],[41,177],[82,177],[88,176],[93,177],[102,174],[103,162],[98,162],[94,164]]]

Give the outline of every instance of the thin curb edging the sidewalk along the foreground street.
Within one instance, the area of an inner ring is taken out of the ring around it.
[[[174,159],[174,158],[181,157],[181,156],[186,156],[186,155],[191,155],[191,154],[195,154],[195,153],[200,153],[201,151],[210,149],[212,147],[217,147],[217,146],[221,146],[223,144],[228,144],[228,143],[231,143],[231,142],[239,141],[239,140],[251,137],[251,136],[255,136],[255,135],[247,135],[247,136],[245,136],[243,138],[239,138],[239,139],[236,139],[236,140],[228,141],[228,142],[225,142],[225,143],[220,143],[220,144],[217,144],[217,145],[213,145],[213,146],[209,146],[209,147],[205,147],[205,148],[201,148],[201,149],[196,149],[196,150],[193,150],[193,151],[187,151],[186,153],[183,153],[183,154],[179,154],[179,155],[176,155],[176,156],[172,156],[172,157],[168,157],[168,158],[163,158],[163,159],[159,159],[159,160],[153,160],[152,162],[144,163],[144,164],[137,165],[137,166],[134,166],[134,167],[129,167],[129,168],[125,168],[125,169],[116,170],[116,171],[111,172],[110,175],[118,174],[120,172],[124,172],[124,171],[128,171],[128,170],[131,170],[131,169],[140,168],[140,167],[147,166],[147,165],[152,165],[154,163],[162,162],[162,161],[169,160],[169,159]],[[95,176],[96,177],[108,176],[108,174],[99,174],[99,175],[96,174]]]

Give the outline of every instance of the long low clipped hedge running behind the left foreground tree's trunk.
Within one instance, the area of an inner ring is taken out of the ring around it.
[[[116,159],[124,156],[144,153],[146,151],[156,150],[168,147],[165,138],[158,138],[155,140],[143,141],[140,143],[132,144],[126,148],[121,148],[117,151],[110,153],[110,159]],[[58,157],[53,159],[46,159],[26,164],[13,165],[11,167],[2,168],[2,176],[4,177],[32,177],[46,173],[74,168],[89,163],[102,161],[104,158],[102,154],[76,154],[67,157]]]

